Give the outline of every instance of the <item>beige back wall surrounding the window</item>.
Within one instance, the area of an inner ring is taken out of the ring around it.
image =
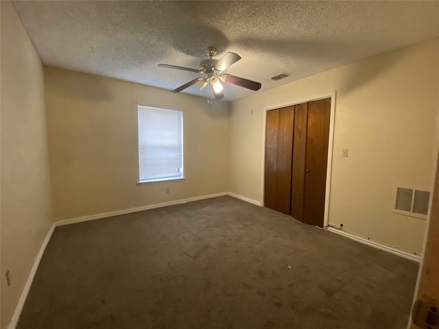
[[[227,192],[228,103],[52,67],[45,92],[57,220]],[[183,110],[185,181],[137,185],[137,103]]]

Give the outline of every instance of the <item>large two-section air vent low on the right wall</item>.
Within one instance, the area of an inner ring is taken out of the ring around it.
[[[419,218],[427,218],[430,202],[429,191],[413,188],[396,188],[394,212]]]

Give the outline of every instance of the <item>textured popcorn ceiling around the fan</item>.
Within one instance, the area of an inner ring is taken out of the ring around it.
[[[267,90],[439,36],[439,1],[14,1],[49,66],[174,89],[204,49],[241,56],[226,72]],[[291,76],[277,82],[270,77]],[[206,96],[196,86],[185,93]],[[255,93],[228,85],[225,101]]]

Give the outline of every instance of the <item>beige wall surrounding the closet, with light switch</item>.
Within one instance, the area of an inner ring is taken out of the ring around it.
[[[329,223],[421,252],[425,220],[390,210],[397,186],[432,191],[438,70],[436,39],[233,102],[230,191],[263,201],[264,108],[335,90]]]

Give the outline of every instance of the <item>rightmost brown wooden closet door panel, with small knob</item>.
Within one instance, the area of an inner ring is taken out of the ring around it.
[[[323,226],[331,99],[308,103],[304,222]]]

